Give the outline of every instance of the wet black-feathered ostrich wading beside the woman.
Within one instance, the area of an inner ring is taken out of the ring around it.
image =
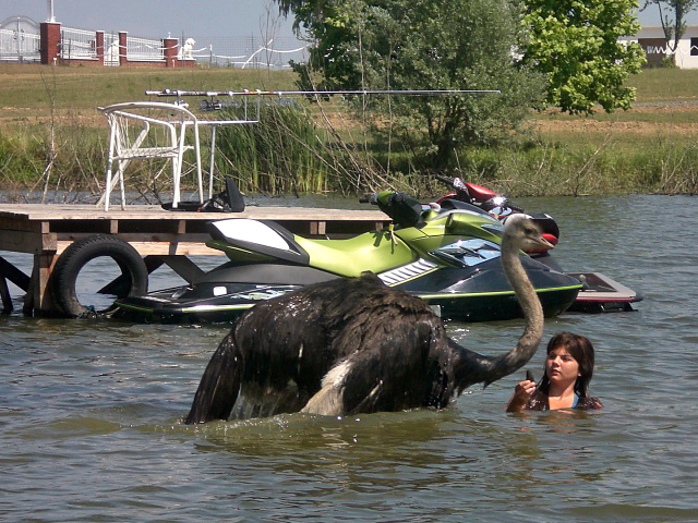
[[[519,251],[543,245],[551,247],[525,215],[508,218],[502,263],[526,326],[501,356],[460,346],[423,300],[374,275],[340,278],[242,315],[210,358],[184,423],[440,409],[473,384],[486,387],[525,365],[541,341],[543,311]]]

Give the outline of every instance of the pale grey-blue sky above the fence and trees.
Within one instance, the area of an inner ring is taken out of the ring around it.
[[[45,22],[49,3],[50,0],[0,0],[0,22],[16,15]],[[281,19],[272,0],[53,0],[53,15],[65,27],[127,31],[131,36],[146,38],[163,38],[168,34],[173,37],[292,36],[292,20]],[[278,24],[273,33],[263,28],[267,19]],[[660,25],[657,5],[639,13],[639,19],[642,25]],[[698,24],[698,13],[690,13],[687,22]]]

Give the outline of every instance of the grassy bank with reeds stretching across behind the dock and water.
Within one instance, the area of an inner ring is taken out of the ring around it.
[[[258,70],[0,64],[0,186],[17,198],[31,190],[99,194],[107,125],[98,106],[144,99],[146,89],[284,90],[294,88],[293,80],[290,72]],[[454,171],[510,196],[695,194],[698,71],[645,70],[630,84],[638,100],[629,111],[532,113],[528,132],[510,143],[461,148]],[[371,135],[340,104],[299,105],[300,120],[270,118],[282,127],[269,126],[266,137],[236,137],[230,150],[219,155],[219,175],[233,175],[251,192],[356,192],[387,185],[421,194],[441,191],[413,167],[400,144]],[[245,156],[249,151],[253,155]],[[272,157],[278,160],[269,162]],[[151,180],[145,171],[157,168],[143,165],[142,172],[130,175]],[[153,188],[144,183],[137,191],[157,198]]]

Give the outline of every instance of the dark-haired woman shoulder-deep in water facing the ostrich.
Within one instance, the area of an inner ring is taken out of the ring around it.
[[[593,375],[593,345],[583,336],[558,332],[547,342],[545,374],[538,387],[532,379],[520,381],[506,412],[556,409],[600,409],[589,397]]]

